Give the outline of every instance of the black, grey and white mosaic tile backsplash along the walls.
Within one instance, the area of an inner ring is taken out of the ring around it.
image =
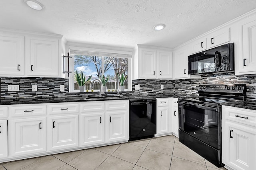
[[[63,78],[21,78],[1,77],[1,100],[32,100],[34,98],[47,101],[50,98],[64,96],[80,97],[87,93],[68,93],[68,79]],[[19,92],[8,92],[8,84],[19,84]],[[166,95],[197,96],[200,84],[246,84],[247,100],[256,101],[256,74],[236,76],[234,73],[207,74],[200,79],[182,80],[132,80],[132,91],[122,92],[124,96],[131,97],[162,97]],[[32,85],[37,85],[37,92],[32,92]],[[65,86],[60,91],[60,85]],[[140,90],[135,90],[140,85]],[[161,89],[164,85],[164,89]],[[90,93],[97,94],[97,93]]]

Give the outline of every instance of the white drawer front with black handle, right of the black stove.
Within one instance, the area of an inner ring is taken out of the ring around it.
[[[224,114],[224,115],[223,115]],[[256,111],[238,107],[222,106],[222,117],[246,125],[256,126]]]

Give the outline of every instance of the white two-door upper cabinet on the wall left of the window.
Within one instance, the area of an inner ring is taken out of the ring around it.
[[[0,76],[61,77],[62,35],[0,31]]]

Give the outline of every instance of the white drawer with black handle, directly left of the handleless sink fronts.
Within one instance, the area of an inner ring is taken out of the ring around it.
[[[47,113],[49,114],[69,114],[78,112],[79,104],[54,104],[47,106]]]

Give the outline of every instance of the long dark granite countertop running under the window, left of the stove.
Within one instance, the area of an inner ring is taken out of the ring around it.
[[[122,98],[87,98],[88,96],[59,96],[55,98],[15,98],[1,100],[0,105],[13,104],[47,104],[47,103],[62,103],[62,102],[89,102],[89,101],[107,101],[107,100],[140,100],[140,99],[156,99],[156,98],[189,98],[190,96],[182,96],[168,94],[162,96],[122,96]],[[89,96],[92,97],[92,96]]]

